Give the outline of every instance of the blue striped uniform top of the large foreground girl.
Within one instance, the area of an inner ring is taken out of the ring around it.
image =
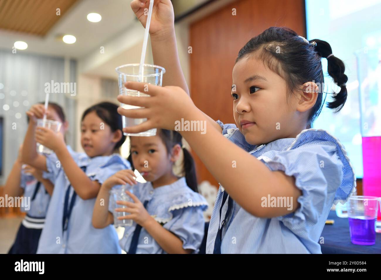
[[[295,212],[258,218],[228,198],[220,185],[208,229],[207,253],[320,254],[318,242],[332,204],[347,200],[355,190],[356,178],[344,146],[326,131],[313,128],[296,138],[253,146],[234,124],[217,123],[225,137],[270,170],[294,176],[302,195]],[[221,228],[220,240],[217,234]]]

